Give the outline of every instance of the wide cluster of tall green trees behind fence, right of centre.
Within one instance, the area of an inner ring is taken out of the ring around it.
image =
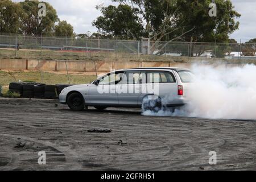
[[[113,11],[118,7],[102,7],[102,16],[93,23],[101,32],[114,36],[127,36],[125,23],[112,24],[111,17],[123,15],[122,21],[130,22],[131,16],[135,23],[129,30],[137,33],[135,38],[144,36],[154,43],[151,52],[163,49],[167,44],[160,41],[186,42],[226,42],[229,34],[238,29],[239,23],[235,18],[241,15],[233,10],[229,0],[216,0],[217,17],[209,16],[210,0],[113,0],[129,9],[129,15],[122,13],[123,9]],[[132,13],[132,14],[131,14]],[[118,30],[118,31],[115,31]],[[138,33],[138,30],[140,31]],[[122,33],[121,33],[122,32]],[[131,38],[131,36],[127,36]],[[159,46],[160,45],[160,46]]]

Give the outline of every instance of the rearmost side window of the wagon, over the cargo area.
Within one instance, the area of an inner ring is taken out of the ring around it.
[[[171,72],[151,71],[147,72],[148,83],[175,82],[174,75]]]

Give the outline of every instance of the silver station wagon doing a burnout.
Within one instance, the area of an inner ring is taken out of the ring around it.
[[[110,72],[91,84],[65,88],[60,93],[60,102],[77,111],[88,106],[98,110],[141,107],[143,111],[158,111],[163,107],[186,104],[193,78],[193,73],[183,68],[122,69]]]

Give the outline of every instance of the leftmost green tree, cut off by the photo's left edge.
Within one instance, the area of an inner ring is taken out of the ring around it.
[[[20,33],[19,17],[22,9],[18,3],[10,0],[0,0],[0,32]]]

